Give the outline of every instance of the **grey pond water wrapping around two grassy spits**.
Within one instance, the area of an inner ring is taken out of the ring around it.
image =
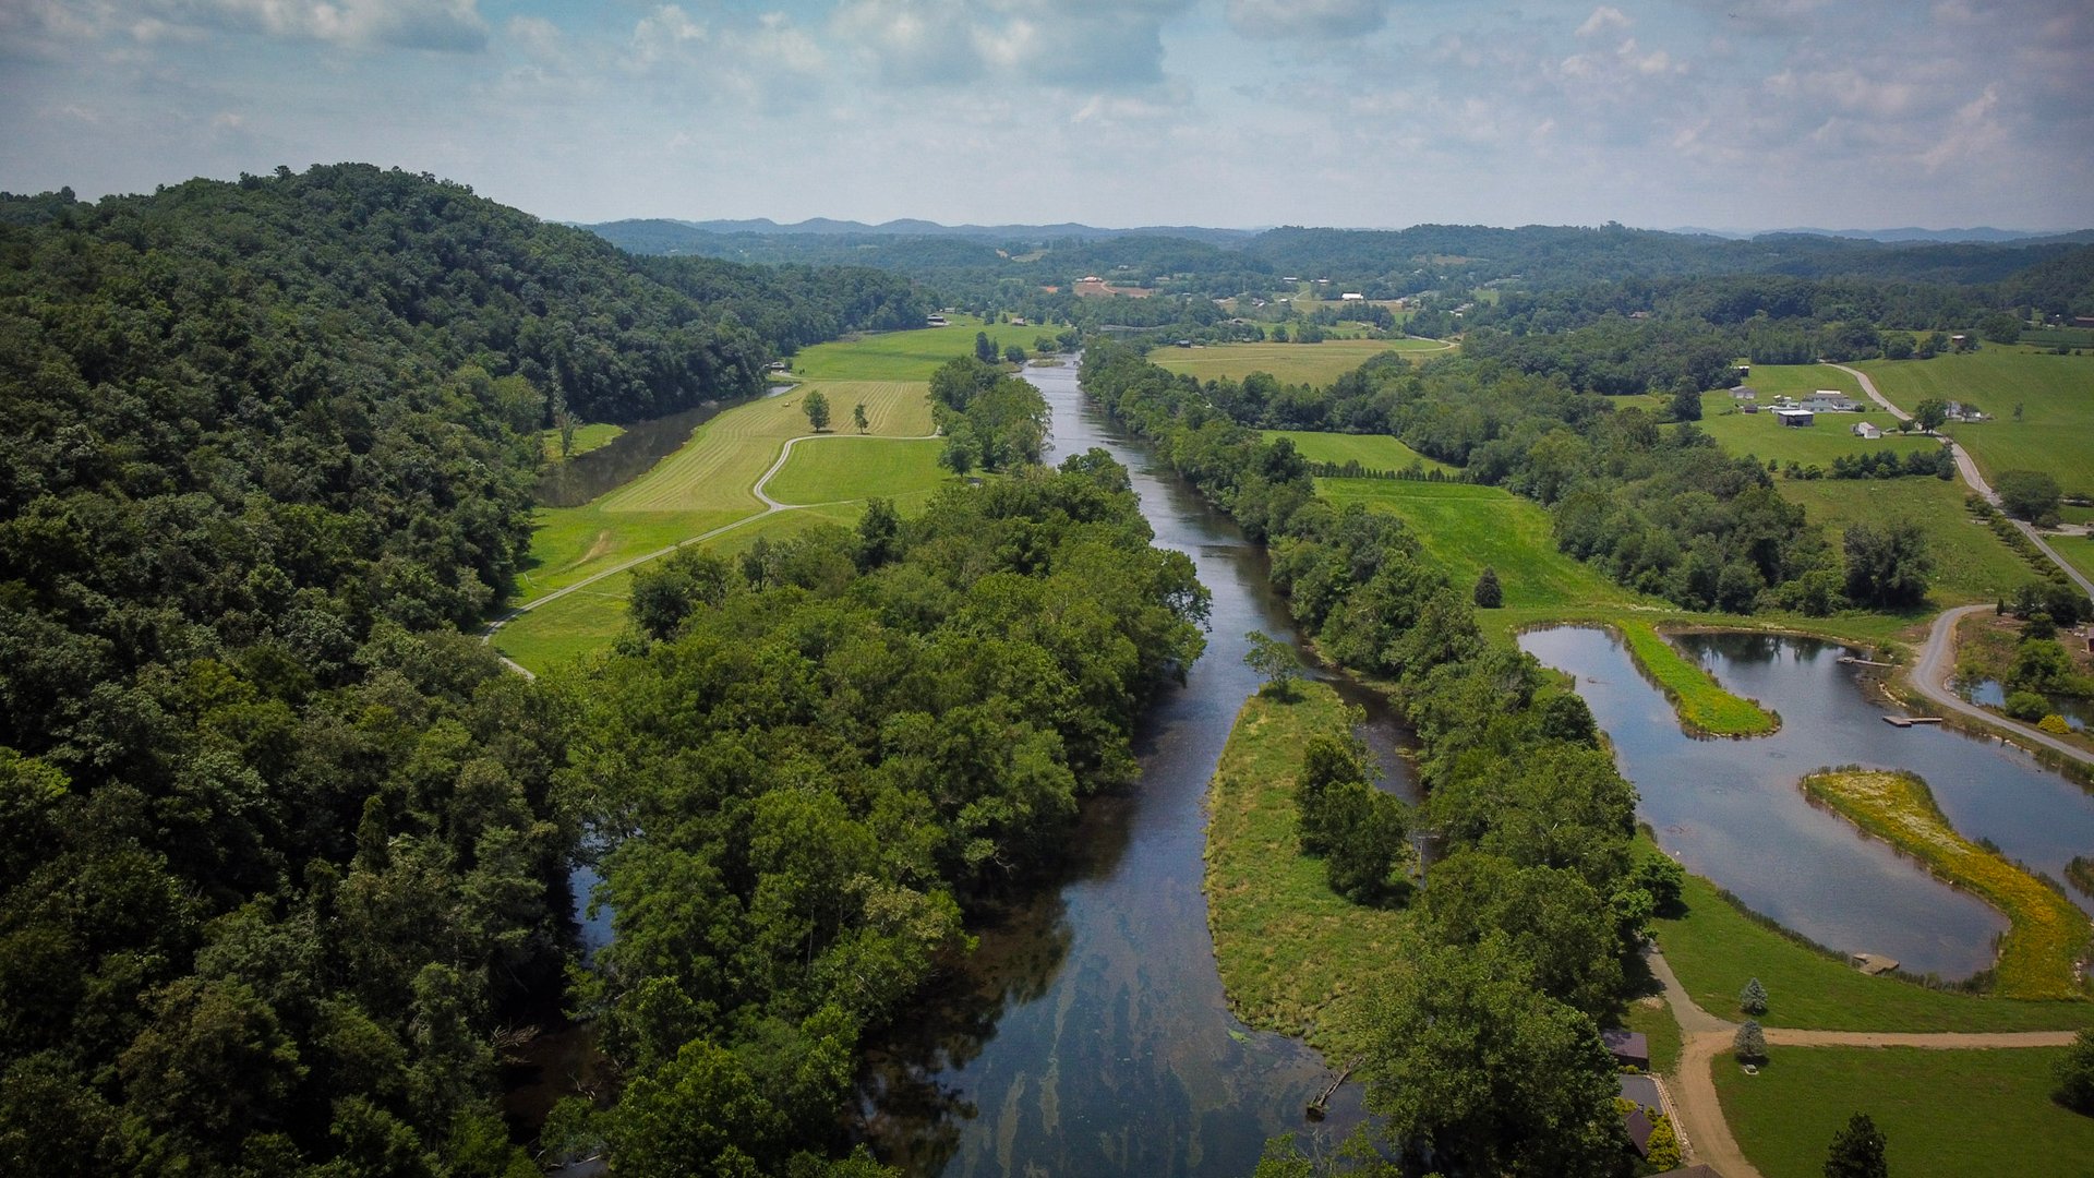
[[[1675,641],[1725,688],[1782,713],[1782,729],[1690,740],[1612,635],[1554,629],[1520,637],[1524,650],[1577,677],[1658,843],[1688,870],[1813,941],[1889,954],[1908,970],[1954,979],[1991,964],[2006,918],[1811,807],[1797,788],[1811,769],[1857,763],[1920,773],[1966,838],[1989,838],[2006,857],[2056,878],[2071,855],[2094,847],[2094,799],[1998,742],[1883,723],[1885,708],[1862,692],[1859,669],[1839,662],[1841,646],[1744,633]]]

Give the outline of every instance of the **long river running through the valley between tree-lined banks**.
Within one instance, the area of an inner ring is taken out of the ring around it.
[[[1305,1121],[1332,1069],[1229,1017],[1200,891],[1206,784],[1258,688],[1244,631],[1294,627],[1263,549],[1177,476],[1145,470],[1078,394],[1074,367],[1026,377],[1053,411],[1055,461],[1101,446],[1133,472],[1156,543],[1191,555],[1212,593],[1212,629],[1187,683],[1143,723],[1139,784],[1085,807],[1064,878],[982,929],[967,977],[873,1050],[865,1134],[915,1174],[1242,1176],[1267,1136],[1340,1136],[1361,1117],[1349,1084],[1323,1126]],[[1386,711],[1369,713],[1384,786],[1416,801],[1390,729]]]

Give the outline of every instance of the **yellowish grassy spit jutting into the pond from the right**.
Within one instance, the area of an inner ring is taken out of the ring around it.
[[[2029,872],[1958,834],[1916,773],[1820,769],[1805,776],[1801,788],[2006,914],[2010,924],[1993,966],[2000,998],[2086,996],[2079,964],[2094,937],[2086,914]]]

